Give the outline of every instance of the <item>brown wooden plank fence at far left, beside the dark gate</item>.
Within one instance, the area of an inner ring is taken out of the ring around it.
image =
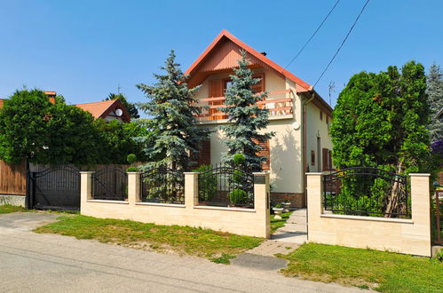
[[[26,162],[0,161],[0,194],[26,194]]]

